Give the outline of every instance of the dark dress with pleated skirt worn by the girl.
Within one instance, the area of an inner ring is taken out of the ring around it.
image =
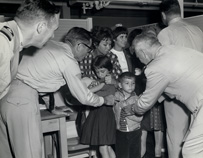
[[[96,92],[99,96],[114,95],[114,85],[104,85]],[[90,113],[83,126],[81,143],[88,145],[112,145],[116,141],[116,121],[113,107],[102,105],[90,107]]]

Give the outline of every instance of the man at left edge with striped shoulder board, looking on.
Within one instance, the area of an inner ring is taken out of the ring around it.
[[[25,0],[14,20],[0,23],[0,99],[15,78],[19,52],[42,47],[58,28],[59,8],[48,0]]]

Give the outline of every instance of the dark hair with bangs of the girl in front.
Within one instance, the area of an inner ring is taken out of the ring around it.
[[[92,61],[92,69],[95,71],[96,69],[106,68],[108,71],[112,71],[113,64],[109,57],[105,55],[99,55]]]

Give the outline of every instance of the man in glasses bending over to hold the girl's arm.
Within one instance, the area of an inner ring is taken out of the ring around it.
[[[81,82],[78,61],[91,51],[91,44],[90,32],[75,27],[65,36],[64,43],[49,41],[32,56],[23,56],[16,79],[1,101],[0,157],[11,158],[14,153],[15,158],[41,158],[38,92],[55,92],[67,84],[82,104],[108,104],[106,98],[91,93]]]

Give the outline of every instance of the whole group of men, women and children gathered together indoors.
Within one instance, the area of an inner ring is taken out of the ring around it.
[[[153,132],[154,157],[166,136],[168,158],[203,158],[203,32],[177,0],[160,14],[163,28],[73,27],[58,42],[60,9],[24,1],[0,23],[0,157],[43,158],[39,97],[66,86],[89,107],[80,143],[99,157],[147,158]]]

